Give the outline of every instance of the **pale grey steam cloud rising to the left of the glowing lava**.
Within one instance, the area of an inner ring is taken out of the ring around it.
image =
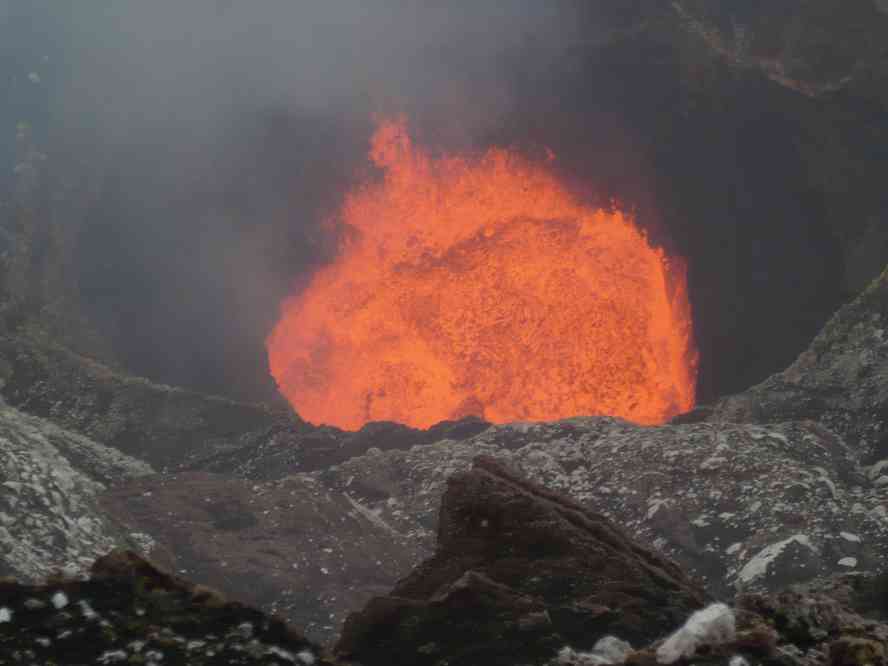
[[[364,168],[373,115],[477,142],[580,23],[531,0],[0,5],[5,139],[32,123],[88,198],[72,279],[113,354],[251,398],[273,393],[264,335],[330,252],[318,221]]]

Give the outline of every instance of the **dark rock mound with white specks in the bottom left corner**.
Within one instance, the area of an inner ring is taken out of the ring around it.
[[[283,622],[118,551],[88,580],[0,581],[4,664],[331,664]]]

